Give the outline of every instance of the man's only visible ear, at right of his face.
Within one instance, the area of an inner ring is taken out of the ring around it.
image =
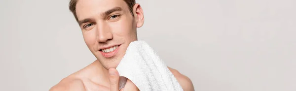
[[[135,17],[135,21],[137,23],[137,27],[142,27],[144,24],[144,13],[141,5],[139,3],[136,3],[133,7],[133,13]]]

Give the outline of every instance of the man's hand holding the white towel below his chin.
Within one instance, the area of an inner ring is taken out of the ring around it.
[[[110,91],[119,91],[119,73],[115,68],[109,69]],[[127,79],[124,88],[120,91],[139,91],[136,85]]]

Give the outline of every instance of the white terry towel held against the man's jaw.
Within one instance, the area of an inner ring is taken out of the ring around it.
[[[165,63],[144,41],[130,43],[116,69],[120,76],[131,80],[140,91],[183,91]],[[126,83],[123,78],[120,77],[120,89]]]

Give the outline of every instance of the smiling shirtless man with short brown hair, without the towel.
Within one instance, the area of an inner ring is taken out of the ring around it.
[[[119,91],[115,68],[128,45],[137,40],[137,27],[144,24],[142,7],[135,0],[71,0],[70,10],[97,60],[64,78],[50,91]],[[194,91],[189,78],[169,69],[184,91]],[[139,90],[128,80],[120,91]]]

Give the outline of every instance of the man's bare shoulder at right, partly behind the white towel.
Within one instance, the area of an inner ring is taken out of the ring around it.
[[[194,91],[193,84],[187,76],[181,74],[176,69],[173,69],[170,67],[168,67],[168,68],[174,74],[174,76],[177,78],[178,82],[180,83],[180,85],[182,86],[184,91]]]

